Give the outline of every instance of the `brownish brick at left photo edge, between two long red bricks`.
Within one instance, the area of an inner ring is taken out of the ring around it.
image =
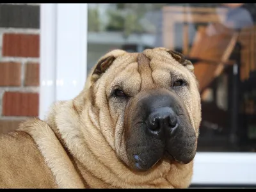
[[[20,63],[0,62],[0,86],[20,86]]]

